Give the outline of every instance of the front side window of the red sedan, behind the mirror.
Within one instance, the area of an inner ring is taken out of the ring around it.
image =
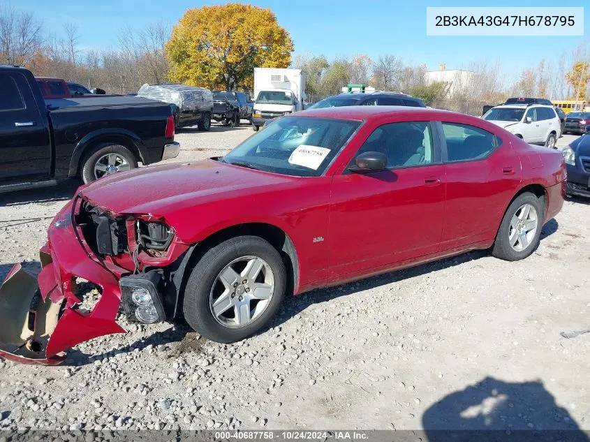
[[[436,161],[432,130],[427,121],[383,124],[369,135],[358,154],[364,152],[385,154],[389,169],[429,165]]]

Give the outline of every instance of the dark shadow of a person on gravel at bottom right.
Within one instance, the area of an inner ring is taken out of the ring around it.
[[[491,377],[430,406],[422,427],[429,442],[590,440],[541,381]]]

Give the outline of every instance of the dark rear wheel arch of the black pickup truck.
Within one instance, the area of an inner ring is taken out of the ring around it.
[[[128,147],[133,145],[135,152],[132,153],[139,156],[139,160],[145,163],[147,158],[147,151],[142,139],[135,133],[128,131],[124,128],[104,128],[98,129],[87,135],[84,135],[78,142],[74,151],[72,152],[72,158],[70,160],[70,168],[68,172],[69,177],[75,177],[78,175],[80,161],[84,157],[84,154],[88,152],[93,145],[103,142],[113,142],[119,145]]]

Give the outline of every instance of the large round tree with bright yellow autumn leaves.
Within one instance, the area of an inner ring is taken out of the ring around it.
[[[255,67],[289,66],[293,41],[272,10],[228,3],[186,10],[165,49],[174,82],[250,89]]]

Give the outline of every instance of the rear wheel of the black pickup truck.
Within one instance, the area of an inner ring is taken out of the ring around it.
[[[138,167],[135,156],[124,146],[105,144],[97,147],[82,162],[84,184],[115,172]]]

